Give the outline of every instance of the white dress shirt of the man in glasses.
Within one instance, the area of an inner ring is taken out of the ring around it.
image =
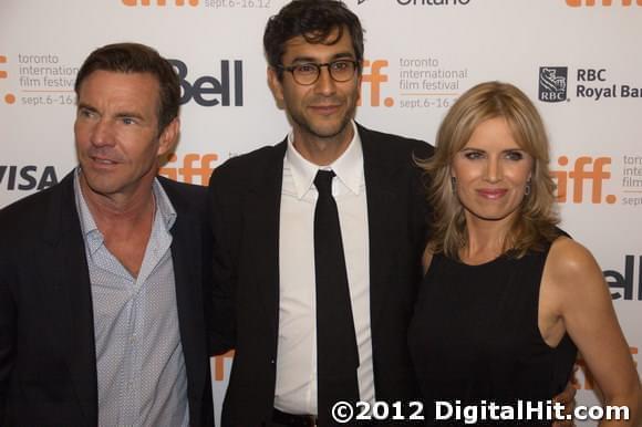
[[[361,400],[374,400],[370,332],[370,257],[363,149],[354,127],[348,149],[332,165],[345,251],[345,267],[360,366]],[[279,337],[275,407],[290,414],[317,414],[317,304],[314,279],[314,177],[319,166],[304,159],[288,136],[283,162],[279,235]]]

